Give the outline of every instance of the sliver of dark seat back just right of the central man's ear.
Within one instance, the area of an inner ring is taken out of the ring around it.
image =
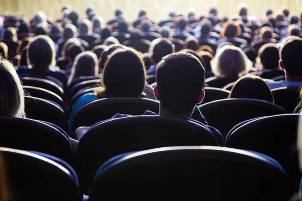
[[[205,95],[201,104],[209,103],[214,100],[228,98],[230,95],[230,91],[221,88],[204,87],[203,89],[205,91]]]

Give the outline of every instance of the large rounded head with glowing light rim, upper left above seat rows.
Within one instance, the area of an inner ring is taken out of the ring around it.
[[[49,69],[55,64],[55,56],[54,43],[48,36],[36,36],[28,44],[27,60],[32,68]]]

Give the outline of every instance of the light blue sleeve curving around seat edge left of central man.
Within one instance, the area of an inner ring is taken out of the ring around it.
[[[75,102],[75,104],[72,107],[71,113],[70,113],[70,117],[68,120],[68,136],[70,138],[74,138],[74,133],[72,133],[72,120],[73,117],[75,115],[75,113],[77,113],[80,108],[82,108],[83,106],[85,106],[86,104],[99,99],[98,96],[96,96],[93,93],[86,93],[85,95],[83,95],[82,97],[80,97],[77,102]]]

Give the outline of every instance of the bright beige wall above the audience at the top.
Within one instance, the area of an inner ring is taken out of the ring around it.
[[[201,15],[210,7],[218,8],[219,15],[237,14],[237,5],[241,2],[247,3],[250,7],[250,15],[263,17],[267,8],[274,10],[286,5],[292,13],[299,14],[302,7],[302,0],[0,0],[0,15],[24,14],[32,18],[35,12],[42,10],[47,16],[58,18],[60,8],[70,4],[85,17],[85,9],[93,5],[97,13],[108,20],[113,17],[116,8],[122,8],[127,20],[133,21],[140,8],[145,8],[148,15],[158,21],[165,18],[169,11],[181,11],[187,13],[194,9],[196,14]]]

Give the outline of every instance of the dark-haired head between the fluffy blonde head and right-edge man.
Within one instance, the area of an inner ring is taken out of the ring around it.
[[[279,67],[279,49],[273,43],[263,45],[259,49],[258,57],[264,69],[276,69]]]

